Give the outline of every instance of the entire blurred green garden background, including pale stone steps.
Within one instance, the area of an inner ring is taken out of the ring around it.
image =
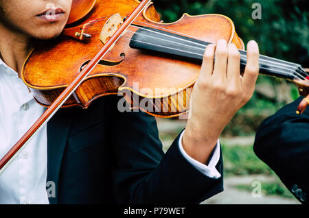
[[[308,0],[157,0],[154,3],[165,23],[177,21],[183,13],[224,14],[233,21],[245,44],[256,40],[260,53],[309,67]],[[253,3],[262,6],[262,19],[252,18]],[[290,82],[260,75],[252,99],[238,111],[220,138],[225,160],[225,192],[205,204],[297,204],[252,149],[260,123],[297,97],[297,88]],[[166,150],[185,121],[158,119],[158,125]],[[262,182],[264,197],[261,199],[253,199],[250,193],[251,182],[257,179]]]

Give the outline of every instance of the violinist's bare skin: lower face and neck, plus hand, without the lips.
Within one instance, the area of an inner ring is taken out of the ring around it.
[[[34,38],[58,36],[67,23],[72,0],[0,0],[0,58],[20,73],[32,50]],[[43,22],[36,15],[47,3],[61,7],[65,14],[58,22]],[[188,155],[206,163],[216,142],[236,112],[251,99],[258,78],[258,44],[247,46],[248,61],[240,75],[240,53],[233,44],[219,40],[205,51],[201,73],[194,85],[190,119],[183,135]],[[214,57],[216,61],[214,63]]]

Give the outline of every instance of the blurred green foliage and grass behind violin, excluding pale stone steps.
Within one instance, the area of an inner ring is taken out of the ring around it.
[[[159,0],[155,6],[165,23],[177,21],[183,13],[224,14],[228,16],[236,27],[238,36],[246,44],[249,40],[256,40],[260,46],[260,53],[296,62],[309,67],[309,1],[308,0]],[[252,19],[253,3],[262,5],[262,19]],[[260,76],[259,84],[268,83],[274,90],[284,80],[273,77]],[[283,86],[284,87],[284,86]],[[255,92],[252,99],[244,108],[239,110],[223,132],[223,136],[242,136],[255,134],[263,119],[273,114],[279,108],[299,97],[297,88],[290,85],[290,98],[278,100],[270,99]],[[165,137],[169,136],[166,134]],[[169,136],[172,141],[175,135]],[[249,146],[222,146],[225,163],[225,176],[251,175],[275,173],[253,153]],[[239,189],[252,191],[250,185],[238,185]],[[265,195],[281,195],[293,197],[282,182],[263,182],[262,190]]]

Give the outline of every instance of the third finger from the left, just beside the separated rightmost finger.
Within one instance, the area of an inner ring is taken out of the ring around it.
[[[229,56],[227,58],[227,80],[240,84],[240,52],[233,43],[227,46]]]

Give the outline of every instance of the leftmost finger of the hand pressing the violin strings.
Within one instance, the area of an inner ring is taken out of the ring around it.
[[[199,77],[210,77],[212,71],[214,71],[214,52],[216,49],[216,45],[209,44],[205,49],[205,53],[203,56],[203,63],[201,67],[201,73]]]

